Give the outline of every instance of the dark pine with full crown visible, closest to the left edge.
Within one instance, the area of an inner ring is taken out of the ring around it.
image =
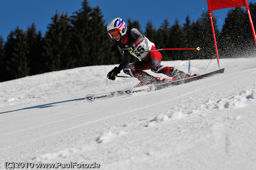
[[[6,51],[5,66],[8,80],[30,75],[28,44],[26,34],[22,29],[17,27],[14,32],[11,31],[4,50]]]

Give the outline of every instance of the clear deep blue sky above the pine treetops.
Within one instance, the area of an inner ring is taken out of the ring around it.
[[[26,30],[33,22],[37,30],[41,30],[44,34],[56,10],[59,13],[67,12],[71,16],[73,12],[81,9],[82,2],[83,0],[1,0],[0,35],[6,40],[11,30],[17,26]],[[116,17],[121,17],[125,21],[131,18],[132,21],[139,21],[142,31],[145,30],[149,20],[158,29],[166,18],[170,25],[173,25],[176,19],[183,25],[187,15],[193,21],[201,17],[203,11],[208,12],[207,0],[88,0],[88,2],[91,7],[100,7],[106,24]],[[228,10],[220,9],[213,12],[214,17],[218,18],[218,28],[224,24]],[[249,22],[248,18],[245,19]]]

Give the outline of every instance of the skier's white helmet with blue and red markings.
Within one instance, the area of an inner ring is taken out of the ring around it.
[[[107,30],[108,30],[108,34],[111,38],[113,38],[113,37],[109,32],[111,32],[113,29],[117,29],[121,36],[125,35],[125,33],[127,31],[127,26],[125,24],[125,21],[123,21],[121,18],[118,17],[118,18],[113,19],[108,24]]]

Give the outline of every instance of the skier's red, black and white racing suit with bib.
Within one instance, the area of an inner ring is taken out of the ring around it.
[[[129,55],[125,56],[122,49],[127,48],[131,43],[136,44],[134,51],[148,51],[156,49],[154,43],[142,35],[138,29],[131,29],[126,32],[122,39],[118,42],[118,49],[122,55],[122,63],[118,66],[120,70],[123,69],[125,74],[131,75],[140,81],[141,75],[145,72],[143,70],[151,69],[155,73],[163,73],[170,76],[171,66],[160,65],[162,55],[159,51],[132,53],[134,57],[139,59],[139,62],[130,63]]]

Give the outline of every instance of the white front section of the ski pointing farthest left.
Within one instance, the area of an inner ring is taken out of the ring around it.
[[[119,90],[119,91],[115,91],[115,92],[101,93],[101,94],[86,95],[85,100],[87,100],[89,102],[93,102],[93,101],[99,101],[99,100],[103,100],[103,99],[107,99],[107,98],[117,97],[120,95],[124,95],[123,90]]]

